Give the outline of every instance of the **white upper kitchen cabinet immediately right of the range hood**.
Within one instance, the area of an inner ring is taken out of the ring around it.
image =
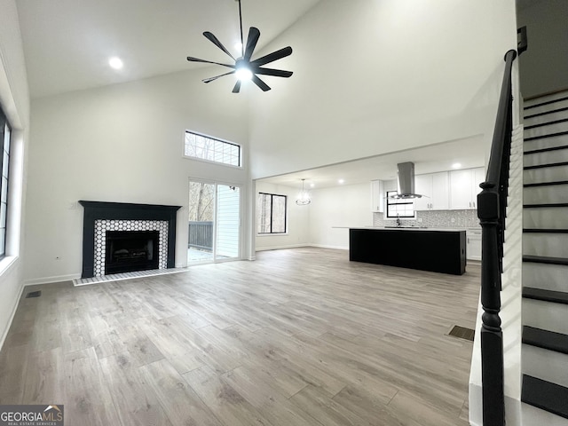
[[[414,192],[423,195],[422,198],[414,200],[414,210],[447,210],[449,208],[447,172],[415,176]]]

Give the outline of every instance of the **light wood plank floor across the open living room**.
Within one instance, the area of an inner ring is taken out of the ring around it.
[[[344,250],[74,288],[28,287],[0,351],[0,404],[66,425],[467,425],[479,266],[350,263]]]

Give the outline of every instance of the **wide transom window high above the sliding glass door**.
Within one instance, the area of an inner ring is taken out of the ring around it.
[[[186,157],[241,167],[241,146],[187,130],[184,154]]]

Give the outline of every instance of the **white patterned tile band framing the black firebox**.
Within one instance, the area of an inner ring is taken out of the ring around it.
[[[168,221],[167,220],[95,220],[94,276],[105,275],[107,231],[158,231],[158,269],[168,267]]]

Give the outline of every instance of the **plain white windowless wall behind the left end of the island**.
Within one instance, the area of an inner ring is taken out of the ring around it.
[[[348,227],[373,225],[371,183],[313,191],[310,241],[327,248],[349,248]]]

